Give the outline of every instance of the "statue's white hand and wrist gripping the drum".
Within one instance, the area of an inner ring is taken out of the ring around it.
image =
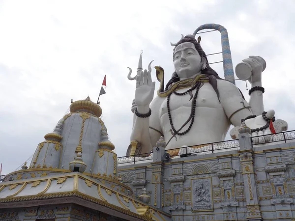
[[[248,81],[252,86],[261,86],[261,73],[266,67],[265,60],[260,56],[249,56],[249,58],[243,59],[243,62],[248,63],[252,68],[252,75]]]

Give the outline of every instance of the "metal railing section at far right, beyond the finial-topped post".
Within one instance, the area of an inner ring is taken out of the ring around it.
[[[274,142],[284,142],[287,143],[288,140],[295,139],[295,130],[294,131],[286,131],[277,134],[269,134],[269,135],[262,135],[257,137],[252,137],[252,146],[267,144],[267,143],[274,143]]]

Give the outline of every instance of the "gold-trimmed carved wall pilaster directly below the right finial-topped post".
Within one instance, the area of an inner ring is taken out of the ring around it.
[[[246,149],[237,152],[239,153],[244,179],[244,192],[247,202],[246,219],[249,221],[262,220],[255,182],[254,151],[252,149]]]

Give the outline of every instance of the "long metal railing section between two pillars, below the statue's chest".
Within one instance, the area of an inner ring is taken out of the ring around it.
[[[169,153],[171,156],[191,156],[192,154],[198,154],[198,153],[216,153],[221,152],[223,150],[227,149],[236,149],[239,148],[239,142],[238,139],[231,139],[221,142],[214,142],[214,143],[206,143],[201,145],[195,145],[195,146],[186,146],[186,147],[180,147],[176,149],[170,149],[165,150],[165,153]]]

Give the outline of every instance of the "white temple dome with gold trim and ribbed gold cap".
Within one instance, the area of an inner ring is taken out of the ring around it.
[[[32,176],[70,172],[73,165],[81,164],[79,172],[107,172],[108,177],[115,177],[117,154],[113,152],[115,146],[108,140],[107,129],[99,118],[101,113],[99,105],[89,97],[72,102],[70,112],[59,120],[53,132],[44,136],[45,141],[38,144],[29,165],[29,170],[36,171]],[[80,162],[82,154],[83,161]],[[17,176],[21,177],[15,173],[13,179]]]

